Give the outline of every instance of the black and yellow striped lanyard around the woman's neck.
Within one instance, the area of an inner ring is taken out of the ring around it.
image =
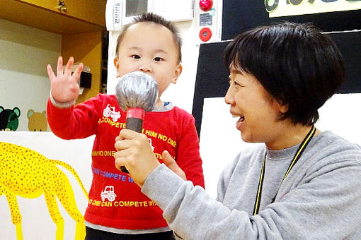
[[[311,130],[309,131],[309,133],[307,133],[307,135],[304,138],[304,140],[302,141],[301,145],[299,145],[299,148],[298,148],[296,154],[294,155],[293,160],[290,164],[290,167],[288,167],[287,172],[281,181],[281,184],[283,183],[283,181],[285,181],[285,179],[288,176],[288,174],[290,173],[292,167],[299,160],[299,157],[301,157],[302,152],[304,152],[306,145],[309,144],[309,141],[314,136],[314,133],[316,133],[316,128],[315,128],[315,126],[312,126]],[[258,211],[260,210],[260,196],[262,194],[263,176],[265,176],[265,157],[263,158],[262,168],[260,169],[260,181],[258,183],[258,190],[257,190],[256,201],[254,203],[253,215],[257,215]],[[277,193],[278,193],[278,191],[277,191]],[[276,196],[277,196],[277,193],[276,193]],[[275,198],[276,198],[276,196],[275,196]],[[272,203],[275,201],[275,198],[273,198]]]

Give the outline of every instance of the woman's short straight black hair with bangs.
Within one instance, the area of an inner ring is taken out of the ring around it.
[[[254,76],[277,101],[288,104],[280,120],[310,126],[318,109],[342,85],[345,66],[336,44],[310,23],[275,23],[238,35],[224,64]]]

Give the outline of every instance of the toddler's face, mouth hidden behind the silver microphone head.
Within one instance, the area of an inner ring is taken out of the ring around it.
[[[155,23],[130,26],[120,42],[114,59],[118,77],[133,71],[152,76],[159,84],[159,96],[171,83],[176,83],[182,66],[171,30]]]

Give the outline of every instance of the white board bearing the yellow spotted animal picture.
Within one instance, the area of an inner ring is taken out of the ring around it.
[[[93,141],[1,132],[0,239],[84,239]]]

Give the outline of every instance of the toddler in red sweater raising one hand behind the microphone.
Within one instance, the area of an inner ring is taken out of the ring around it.
[[[161,209],[144,196],[130,176],[115,168],[115,137],[125,128],[126,116],[115,96],[100,94],[73,106],[79,94],[77,81],[82,68],[80,64],[71,75],[73,61],[69,59],[63,73],[59,57],[57,76],[47,66],[51,82],[47,119],[53,133],[60,138],[96,134],[91,166],[93,181],[85,213],[86,239],[172,239],[173,233]],[[145,115],[143,133],[159,162],[175,157],[186,179],[204,187],[195,120],[185,110],[160,98],[182,72],[181,37],[176,28],[152,13],[135,18],[118,37],[114,64],[118,77],[142,71],[156,79],[159,97],[154,111]]]

